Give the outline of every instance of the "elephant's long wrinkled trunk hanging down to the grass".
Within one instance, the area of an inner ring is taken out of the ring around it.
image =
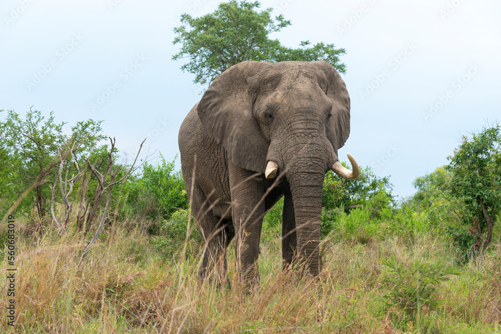
[[[325,162],[308,158],[294,165],[287,172],[287,180],[294,202],[298,262],[306,265],[310,274],[317,276],[320,271],[320,219]]]

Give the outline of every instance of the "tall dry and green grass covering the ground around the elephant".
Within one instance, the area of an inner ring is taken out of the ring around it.
[[[80,264],[76,236],[57,238],[49,232],[35,241],[19,233],[16,332],[501,330],[498,236],[485,256],[460,266],[458,275],[447,275],[448,280],[437,282],[432,291],[436,304],[422,306],[421,321],[415,323],[404,310],[388,306],[391,286],[385,278],[391,272],[383,261],[394,256],[404,268],[416,260],[431,267],[439,262],[457,264],[453,263],[452,246],[432,231],[383,234],[367,242],[365,237],[353,237],[360,234],[354,221],[345,221],[340,234],[326,241],[323,269],[313,280],[282,272],[279,230],[265,224],[259,260],[261,288],[257,295],[245,295],[234,275],[234,243],[228,250],[232,287],[218,289],[213,282],[201,283],[197,279],[200,257],[196,240],[188,240],[188,256],[183,258],[182,242],[168,234],[149,236],[140,221],[121,225],[135,227],[117,228],[115,233],[106,231]],[[2,261],[5,275],[5,256]],[[2,289],[0,293],[5,296],[5,285]],[[6,306],[7,300],[1,298],[0,307]],[[6,321],[2,321],[1,328],[8,329]]]

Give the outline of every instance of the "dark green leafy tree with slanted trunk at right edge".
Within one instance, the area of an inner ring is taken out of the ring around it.
[[[480,248],[485,250],[492,238],[496,216],[501,212],[501,128],[499,124],[483,128],[471,138],[462,136],[462,143],[454,150],[445,167],[451,173],[446,192],[464,201],[469,220],[468,231]],[[487,233],[484,235],[484,233]]]

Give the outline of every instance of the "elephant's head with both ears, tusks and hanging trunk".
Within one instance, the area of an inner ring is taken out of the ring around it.
[[[291,187],[300,254],[318,273],[322,185],[332,169],[353,179],[337,150],[350,134],[350,97],[327,62],[242,62],[217,77],[197,107],[206,131],[242,168],[285,172]]]

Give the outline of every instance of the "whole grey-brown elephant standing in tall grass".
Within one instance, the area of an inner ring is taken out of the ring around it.
[[[226,248],[235,238],[236,270],[246,286],[259,286],[263,217],[282,196],[283,267],[301,264],[318,276],[325,174],[355,179],[360,172],[350,154],[352,170],[338,162],[349,134],[350,97],[325,61],[244,61],[216,77],[178,137],[205,242],[199,277],[220,268],[224,279]]]

